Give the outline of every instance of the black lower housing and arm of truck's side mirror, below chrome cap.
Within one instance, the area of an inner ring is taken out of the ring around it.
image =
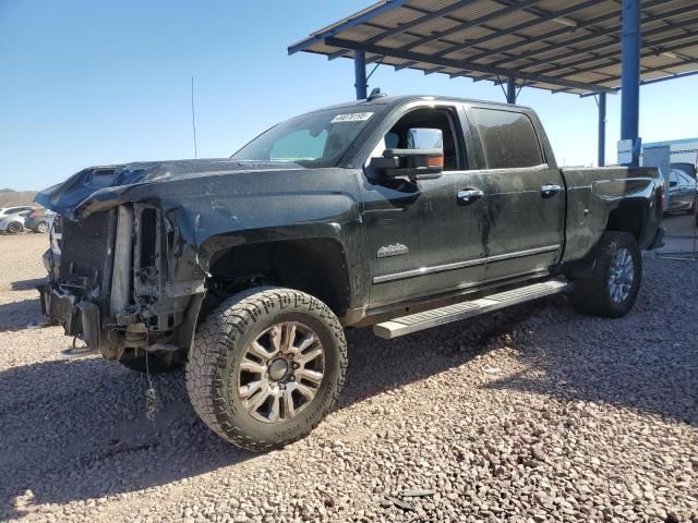
[[[388,178],[433,180],[444,171],[444,149],[385,149],[383,157],[371,158],[369,167]]]

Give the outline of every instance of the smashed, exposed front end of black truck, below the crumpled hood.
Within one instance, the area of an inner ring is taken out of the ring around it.
[[[182,272],[185,284],[173,283]],[[161,209],[123,203],[63,218],[60,267],[39,292],[44,314],[82,340],[82,352],[107,360],[147,352],[171,363],[191,344],[204,282],[195,254]]]

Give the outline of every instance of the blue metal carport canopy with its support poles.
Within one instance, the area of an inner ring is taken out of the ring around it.
[[[354,59],[358,98],[371,62],[506,83],[510,102],[517,86],[605,98],[623,85],[636,163],[639,85],[697,74],[697,29],[696,0],[384,0],[288,52]]]

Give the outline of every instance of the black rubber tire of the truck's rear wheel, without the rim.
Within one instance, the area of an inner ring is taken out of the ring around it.
[[[613,255],[619,248],[627,248],[633,257],[634,279],[628,296],[616,303],[611,299],[609,278],[611,277]],[[642,255],[635,236],[627,232],[605,232],[597,246],[591,278],[575,280],[573,303],[581,313],[619,318],[633,308],[640,291],[641,279]]]

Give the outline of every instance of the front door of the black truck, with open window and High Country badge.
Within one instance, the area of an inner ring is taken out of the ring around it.
[[[456,107],[402,109],[386,120],[371,156],[381,156],[386,147],[408,148],[411,131],[429,129],[443,136],[440,178],[411,182],[364,174],[373,308],[467,288],[483,276],[483,198],[464,196],[464,191],[480,186],[481,177],[467,171]]]

